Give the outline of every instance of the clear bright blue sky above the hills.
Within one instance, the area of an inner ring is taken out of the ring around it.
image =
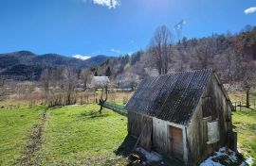
[[[146,49],[157,26],[173,29],[182,19],[188,38],[239,32],[256,25],[255,7],[256,0],[1,0],[0,53],[118,56]]]

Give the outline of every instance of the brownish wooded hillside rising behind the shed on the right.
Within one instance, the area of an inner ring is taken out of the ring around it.
[[[161,28],[157,28],[155,34],[161,33]],[[167,62],[167,73],[211,68],[226,83],[256,82],[256,26],[247,26],[237,34],[212,34],[201,39],[183,38],[175,44],[171,41],[165,47],[165,52],[163,46],[154,44],[155,40],[159,40],[156,37],[158,36],[153,35],[152,40],[149,40],[147,50],[109,59],[93,71],[104,75],[110,68],[113,77],[141,79],[147,75],[155,75],[159,72],[158,64]],[[159,61],[160,58],[163,61]]]

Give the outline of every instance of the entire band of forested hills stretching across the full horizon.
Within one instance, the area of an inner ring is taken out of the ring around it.
[[[155,34],[161,34],[164,28],[167,27],[160,26]],[[149,40],[146,50],[117,58],[97,56],[81,60],[57,54],[40,56],[28,51],[1,54],[0,75],[38,79],[45,68],[68,66],[78,73],[82,68],[87,68],[90,75],[108,75],[120,81],[137,83],[148,75],[157,75],[159,71],[172,73],[211,68],[217,71],[224,83],[256,84],[255,26],[247,26],[237,34],[212,34],[200,39],[183,38],[175,43],[170,38],[165,47],[155,44],[155,41],[160,40],[155,39],[155,34]]]

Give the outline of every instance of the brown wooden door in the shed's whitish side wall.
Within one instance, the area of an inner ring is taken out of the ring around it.
[[[170,130],[170,150],[174,158],[183,160],[183,137],[182,129],[174,126],[169,127]]]

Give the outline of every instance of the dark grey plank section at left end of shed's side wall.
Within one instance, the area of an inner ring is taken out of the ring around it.
[[[151,117],[128,111],[128,133],[136,138],[141,134],[139,144],[147,150],[152,148],[152,125]]]

